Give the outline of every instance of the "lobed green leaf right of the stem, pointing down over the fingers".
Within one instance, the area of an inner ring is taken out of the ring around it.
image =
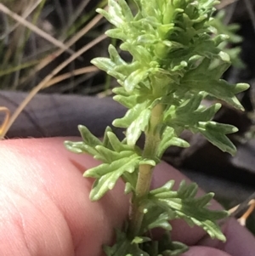
[[[212,238],[225,241],[225,236],[217,225],[218,219],[228,216],[226,211],[212,211],[207,208],[208,202],[212,199],[212,193],[195,198],[197,185],[194,183],[186,185],[182,181],[178,191],[172,191],[173,181],[159,189],[150,191],[149,200],[159,208],[173,211],[177,218],[184,219],[189,225],[198,225]]]

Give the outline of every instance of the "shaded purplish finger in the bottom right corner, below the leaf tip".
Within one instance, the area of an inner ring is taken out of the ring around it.
[[[209,247],[218,247],[232,256],[253,256],[255,255],[255,240],[252,233],[241,226],[235,219],[230,219],[224,225],[224,235],[227,242],[212,241],[205,237],[200,244]]]

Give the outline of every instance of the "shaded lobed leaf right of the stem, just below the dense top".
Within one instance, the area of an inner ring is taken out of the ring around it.
[[[213,145],[218,146],[220,150],[229,152],[231,155],[235,154],[235,145],[232,144],[226,134],[237,132],[237,128],[227,124],[212,122],[212,117],[214,117],[221,105],[202,106],[200,102],[204,95],[205,94],[193,95],[189,100],[184,100],[181,105],[172,106],[167,110],[164,122],[170,127],[168,128],[170,134],[168,134],[167,140],[163,137],[159,153],[166,150],[167,146],[173,145],[170,144],[170,142],[174,143],[176,141],[176,145],[178,146],[182,145],[181,143],[187,145],[184,141],[178,139],[171,141],[171,138],[169,138],[177,128],[186,128],[193,133],[204,135]],[[172,136],[173,139],[175,139],[174,134]]]

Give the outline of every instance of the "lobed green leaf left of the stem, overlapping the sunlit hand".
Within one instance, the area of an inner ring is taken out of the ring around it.
[[[134,191],[139,165],[156,165],[152,160],[143,159],[138,147],[127,145],[126,140],[117,139],[111,128],[106,128],[103,142],[91,134],[88,128],[79,126],[79,130],[83,141],[65,141],[66,148],[74,153],[86,152],[104,162],[84,173],[85,177],[95,178],[90,193],[92,201],[99,200],[107,191],[112,190],[120,177],[126,181],[126,191]]]

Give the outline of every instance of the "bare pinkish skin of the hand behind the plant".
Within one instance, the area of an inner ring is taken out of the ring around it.
[[[74,138],[68,138],[74,140]],[[128,199],[120,181],[99,202],[90,202],[93,179],[82,173],[98,164],[65,150],[63,138],[10,139],[0,147],[0,255],[101,256],[113,227],[127,217]],[[153,187],[186,179],[162,162]],[[218,208],[216,202],[213,208]],[[226,243],[212,241],[199,228],[175,221],[173,238],[190,245],[182,256],[252,256],[255,240],[234,219],[224,225]]]

